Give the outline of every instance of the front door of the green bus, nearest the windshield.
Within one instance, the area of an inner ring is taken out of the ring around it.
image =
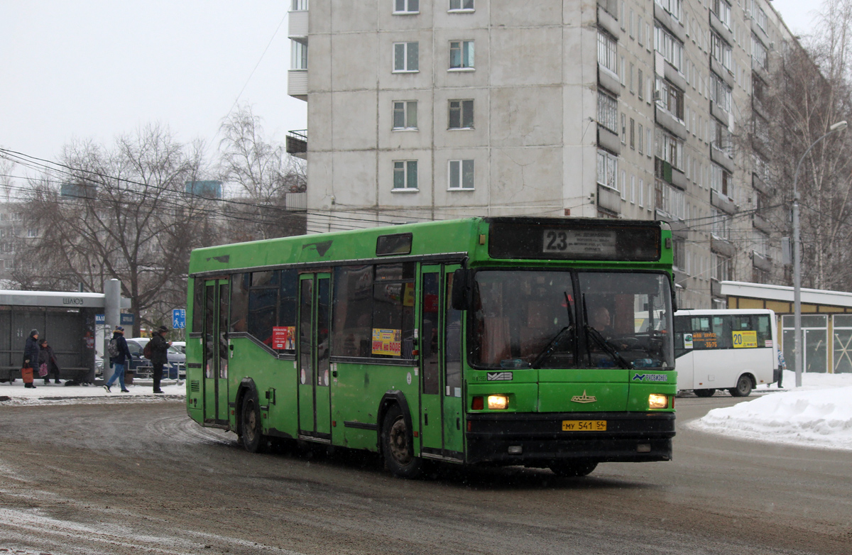
[[[420,450],[427,458],[462,461],[461,312],[450,304],[456,268],[421,270]]]

